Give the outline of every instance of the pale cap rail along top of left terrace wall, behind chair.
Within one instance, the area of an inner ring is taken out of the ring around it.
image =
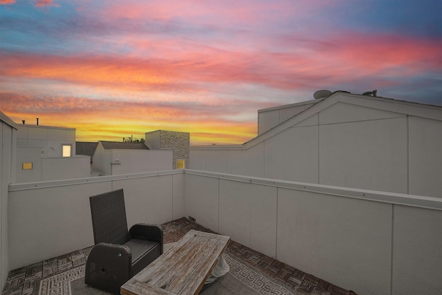
[[[41,188],[46,188],[46,187],[63,187],[66,185],[86,184],[86,183],[94,183],[94,182],[108,182],[108,181],[114,181],[114,180],[128,180],[128,179],[135,179],[135,178],[147,178],[147,177],[174,175],[174,174],[182,174],[182,173],[184,173],[182,170],[168,170],[168,171],[121,174],[121,175],[94,176],[94,177],[90,177],[90,178],[76,178],[76,179],[69,179],[69,180],[27,182],[27,183],[19,183],[19,184],[9,184],[9,191],[23,191],[23,190],[27,190],[27,189],[41,189]]]

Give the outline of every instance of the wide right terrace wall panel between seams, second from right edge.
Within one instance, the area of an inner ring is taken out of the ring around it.
[[[390,294],[392,204],[278,189],[277,259],[358,294]]]

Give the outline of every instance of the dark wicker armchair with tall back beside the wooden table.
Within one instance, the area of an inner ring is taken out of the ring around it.
[[[129,278],[163,253],[163,231],[144,224],[128,231],[122,189],[89,200],[95,246],[86,262],[84,283],[119,294]]]

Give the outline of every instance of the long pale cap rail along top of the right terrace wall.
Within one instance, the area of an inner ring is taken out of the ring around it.
[[[251,178],[241,175],[226,173],[215,173],[207,171],[197,171],[186,169],[185,174],[200,175],[210,178],[219,178],[237,182],[248,182],[251,184],[261,184],[281,189],[294,189],[297,191],[309,191],[312,193],[322,193],[331,196],[345,198],[355,198],[372,202],[384,202],[388,204],[401,204],[410,207],[420,207],[425,209],[442,210],[442,198],[427,196],[407,195],[404,193],[389,193],[385,191],[371,191],[367,189],[352,189],[347,187],[334,187],[323,184],[312,184],[305,182],[291,182],[285,180],[271,180],[268,178]]]

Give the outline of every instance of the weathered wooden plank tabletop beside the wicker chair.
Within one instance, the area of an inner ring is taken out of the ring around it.
[[[121,294],[198,294],[229,242],[228,236],[192,229],[122,285]]]

